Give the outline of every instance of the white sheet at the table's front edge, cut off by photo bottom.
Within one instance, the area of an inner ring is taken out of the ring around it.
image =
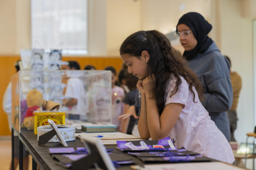
[[[216,170],[216,169],[225,169],[225,170],[241,170],[232,164],[226,164],[221,162],[210,162],[210,163],[173,163],[173,164],[151,164],[145,165],[147,170]]]

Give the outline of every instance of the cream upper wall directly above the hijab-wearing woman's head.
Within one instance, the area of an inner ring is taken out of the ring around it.
[[[187,12],[199,12],[210,18],[210,0],[141,0],[142,30],[165,31],[176,27],[179,18]],[[184,9],[180,7],[184,6]]]

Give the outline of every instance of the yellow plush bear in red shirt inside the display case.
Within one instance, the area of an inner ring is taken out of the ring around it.
[[[43,100],[43,95],[40,91],[33,89],[28,92],[26,102],[28,105],[27,113],[24,118],[24,125],[28,130],[34,129],[34,116],[33,111],[42,111],[41,107],[45,107],[47,102]]]

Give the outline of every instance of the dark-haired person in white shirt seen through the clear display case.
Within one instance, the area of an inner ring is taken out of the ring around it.
[[[87,119],[85,111],[85,88],[83,81],[79,78],[79,72],[74,70],[80,70],[80,65],[76,61],[68,61],[68,65],[62,65],[62,70],[67,70],[67,87],[65,96],[69,97],[68,100],[64,100],[62,105],[69,108],[66,111],[70,119]],[[69,71],[70,70],[70,71]],[[79,118],[78,118],[79,117]]]

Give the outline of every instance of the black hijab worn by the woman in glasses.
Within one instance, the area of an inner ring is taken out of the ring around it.
[[[190,60],[196,57],[198,54],[202,54],[203,52],[207,51],[208,47],[213,43],[213,40],[207,36],[207,34],[210,33],[211,28],[213,28],[211,24],[208,23],[207,20],[205,20],[205,18],[203,18],[203,16],[197,12],[189,12],[184,14],[181,18],[179,18],[177,26],[181,23],[189,26],[195,36],[195,39],[197,39],[197,46],[190,51],[185,51],[183,54],[184,57],[186,57],[187,60]]]

